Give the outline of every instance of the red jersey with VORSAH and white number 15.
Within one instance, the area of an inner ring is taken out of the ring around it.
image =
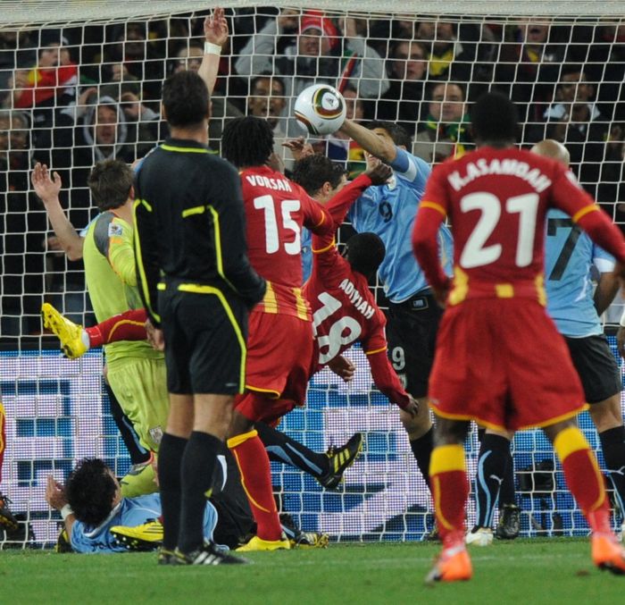
[[[333,231],[328,212],[304,189],[268,166],[240,172],[246,208],[247,256],[267,280],[267,292],[254,311],[311,319],[302,294],[302,227]]]

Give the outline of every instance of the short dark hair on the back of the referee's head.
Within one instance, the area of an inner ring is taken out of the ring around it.
[[[211,96],[195,71],[179,71],[162,85],[162,106],[174,128],[195,126],[208,117]]]

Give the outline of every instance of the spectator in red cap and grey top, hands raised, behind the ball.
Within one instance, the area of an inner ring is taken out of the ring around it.
[[[283,55],[274,55],[277,38],[298,24],[296,44]],[[378,98],[388,88],[384,61],[367,46],[354,19],[345,20],[345,38],[337,26],[319,12],[307,12],[298,21],[292,13],[281,13],[277,19],[252,36],[235,63],[241,75],[258,75],[269,71],[285,80],[287,107],[304,88],[315,82],[327,82],[345,88],[347,82],[357,85],[363,98]],[[346,62],[341,61],[346,57]],[[345,63],[345,64],[343,64]],[[287,134],[299,134],[295,121],[289,121]]]

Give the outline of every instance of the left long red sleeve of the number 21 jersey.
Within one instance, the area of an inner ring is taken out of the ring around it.
[[[438,228],[447,215],[449,197],[443,164],[432,172],[412,228],[412,249],[429,284],[443,288],[447,277],[438,255]]]

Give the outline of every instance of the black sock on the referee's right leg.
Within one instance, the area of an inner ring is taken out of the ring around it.
[[[178,548],[189,553],[204,543],[205,492],[212,487],[212,474],[223,441],[209,433],[194,431],[182,457],[180,529]]]

